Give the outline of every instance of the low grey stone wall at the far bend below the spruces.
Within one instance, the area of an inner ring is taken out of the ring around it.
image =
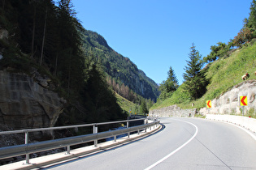
[[[165,108],[150,110],[150,116],[158,117],[194,117],[196,108],[181,109],[177,105],[171,105]]]

